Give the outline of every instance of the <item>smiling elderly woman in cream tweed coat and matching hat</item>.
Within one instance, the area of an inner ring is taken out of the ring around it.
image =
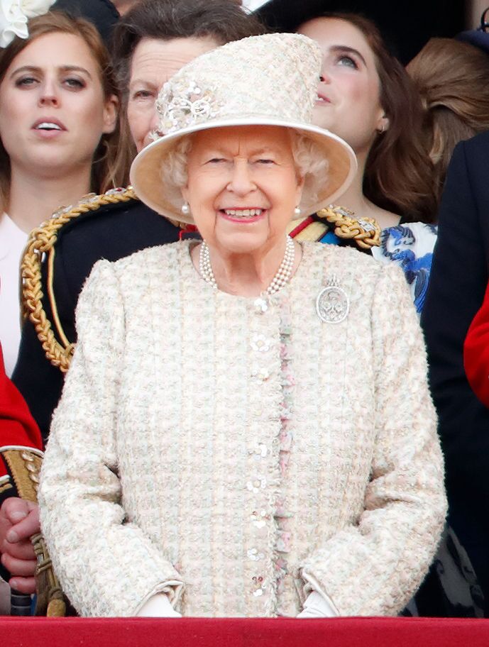
[[[168,134],[133,184],[204,242],[100,261],[79,299],[40,514],[82,615],[397,614],[434,554],[443,467],[402,273],[285,236],[356,170],[310,123],[320,65],[309,38],[256,36],[160,95]]]

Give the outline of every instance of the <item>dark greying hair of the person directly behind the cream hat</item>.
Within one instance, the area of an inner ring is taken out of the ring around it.
[[[121,132],[136,148],[127,123],[128,85],[134,50],[143,38],[213,38],[218,45],[265,32],[256,16],[230,0],[141,0],[119,19],[111,40],[112,58],[122,95]]]

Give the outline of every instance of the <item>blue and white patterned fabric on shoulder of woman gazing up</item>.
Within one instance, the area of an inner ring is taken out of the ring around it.
[[[380,247],[373,257],[385,264],[395,262],[405,273],[416,311],[421,314],[426,297],[437,227],[426,223],[405,223],[383,229]]]

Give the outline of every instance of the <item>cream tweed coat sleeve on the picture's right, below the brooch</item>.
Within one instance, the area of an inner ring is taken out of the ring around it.
[[[432,561],[446,513],[424,341],[397,267],[380,272],[371,325],[376,441],[364,509],[300,571],[300,595],[321,592],[347,616],[393,615],[405,606]]]

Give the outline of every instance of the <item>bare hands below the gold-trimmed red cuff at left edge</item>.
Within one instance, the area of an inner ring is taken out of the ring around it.
[[[31,536],[40,532],[38,504],[11,497],[0,507],[1,563],[9,570],[11,588],[35,593],[35,553]]]

